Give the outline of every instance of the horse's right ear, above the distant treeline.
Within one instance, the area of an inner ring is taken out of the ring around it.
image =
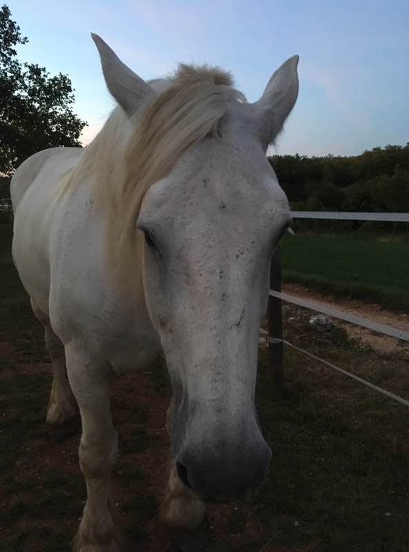
[[[298,59],[298,56],[287,59],[269,79],[263,96],[253,103],[257,130],[266,149],[283,129],[285,119],[296,103]]]

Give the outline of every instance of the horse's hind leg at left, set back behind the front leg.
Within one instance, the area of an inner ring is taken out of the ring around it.
[[[44,326],[46,348],[53,362],[53,387],[48,402],[47,423],[53,428],[56,435],[64,437],[75,432],[77,423],[77,403],[68,382],[64,345],[53,332],[50,319],[31,300],[32,311],[35,317]]]

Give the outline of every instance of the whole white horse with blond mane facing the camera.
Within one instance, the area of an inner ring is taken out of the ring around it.
[[[53,360],[47,421],[64,424],[76,403],[81,414],[75,550],[113,552],[110,386],[160,351],[173,386],[164,520],[194,530],[204,501],[267,473],[258,328],[291,217],[265,151],[296,101],[298,57],[246,103],[220,69],[182,65],[146,83],[93,39],[118,106],[86,148],[42,151],[16,171],[13,255]]]

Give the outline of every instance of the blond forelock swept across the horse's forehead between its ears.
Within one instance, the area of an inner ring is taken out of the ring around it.
[[[196,141],[211,135],[228,101],[245,101],[229,73],[180,64],[169,86],[135,114],[125,151],[122,193],[137,217],[146,190],[162,179]],[[134,200],[134,201],[132,201]]]

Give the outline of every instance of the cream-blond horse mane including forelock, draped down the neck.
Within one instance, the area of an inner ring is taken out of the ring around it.
[[[122,108],[86,147],[64,187],[93,180],[94,200],[105,218],[108,262],[121,288],[143,294],[143,233],[135,228],[146,190],[167,174],[181,155],[217,126],[229,101],[245,101],[220,68],[180,64],[158,95],[129,118]],[[164,88],[164,89],[163,89]]]

